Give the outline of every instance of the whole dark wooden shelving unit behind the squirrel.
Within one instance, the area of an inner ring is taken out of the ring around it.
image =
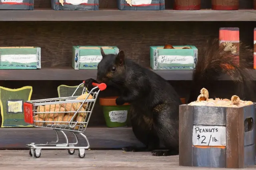
[[[96,77],[96,70],[71,67],[72,45],[117,46],[144,67],[150,65],[150,46],[169,43],[200,48],[206,40],[218,38],[220,27],[239,27],[240,40],[253,48],[256,10],[252,10],[252,0],[240,0],[241,9],[236,11],[210,10],[211,0],[202,0],[202,10],[196,11],[172,10],[173,0],[166,0],[164,11],[120,11],[116,0],[100,0],[99,11],[54,11],[50,0],[35,0],[34,4],[32,11],[0,10],[0,46],[41,47],[42,69],[0,70],[1,86],[31,85],[32,99],[57,97],[58,85],[78,85]],[[154,72],[170,80],[181,97],[187,97],[192,70]],[[251,67],[249,72],[256,80],[256,71]],[[220,80],[223,80],[218,82],[220,90],[227,81],[231,82],[228,75],[222,75]],[[118,95],[118,92],[107,88],[100,97],[109,95]],[[98,102],[85,133],[92,148],[141,145],[130,127],[106,128]],[[0,128],[3,139],[0,148],[25,148],[30,142],[55,140],[54,135],[53,130],[47,128]]]

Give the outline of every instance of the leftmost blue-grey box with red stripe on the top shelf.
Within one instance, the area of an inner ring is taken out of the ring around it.
[[[0,0],[0,10],[34,10],[34,0]]]

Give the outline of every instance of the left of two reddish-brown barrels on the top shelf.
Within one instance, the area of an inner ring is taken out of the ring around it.
[[[200,10],[201,0],[174,0],[174,10]]]

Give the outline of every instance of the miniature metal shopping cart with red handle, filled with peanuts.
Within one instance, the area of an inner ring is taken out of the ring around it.
[[[80,100],[77,98],[79,96],[74,96],[74,94],[83,84],[84,82],[76,88],[71,97],[24,102],[24,121],[34,127],[54,129],[57,138],[55,142],[46,144],[26,144],[30,148],[30,156],[39,158],[41,149],[68,149],[68,153],[71,155],[74,154],[75,149],[78,149],[78,156],[84,158],[85,149],[89,149],[90,144],[82,132],[86,130],[98,94],[106,89],[106,84],[92,83],[95,87],[90,92],[84,88],[82,95],[87,95],[87,97]],[[74,135],[75,142],[70,143],[64,131],[70,131]],[[64,135],[66,143],[59,143],[58,132]],[[78,144],[78,134],[86,140],[87,146],[75,146]]]

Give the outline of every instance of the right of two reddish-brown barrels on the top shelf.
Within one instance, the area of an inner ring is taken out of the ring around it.
[[[238,10],[239,0],[212,0],[212,10]]]

